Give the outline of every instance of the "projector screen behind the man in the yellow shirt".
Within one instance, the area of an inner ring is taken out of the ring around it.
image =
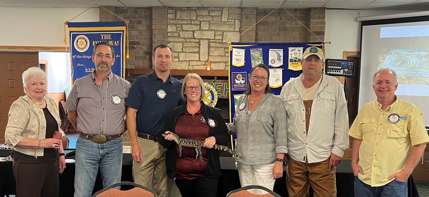
[[[429,126],[429,16],[362,21],[358,110],[377,99],[373,74],[396,71],[396,95],[416,105]]]

